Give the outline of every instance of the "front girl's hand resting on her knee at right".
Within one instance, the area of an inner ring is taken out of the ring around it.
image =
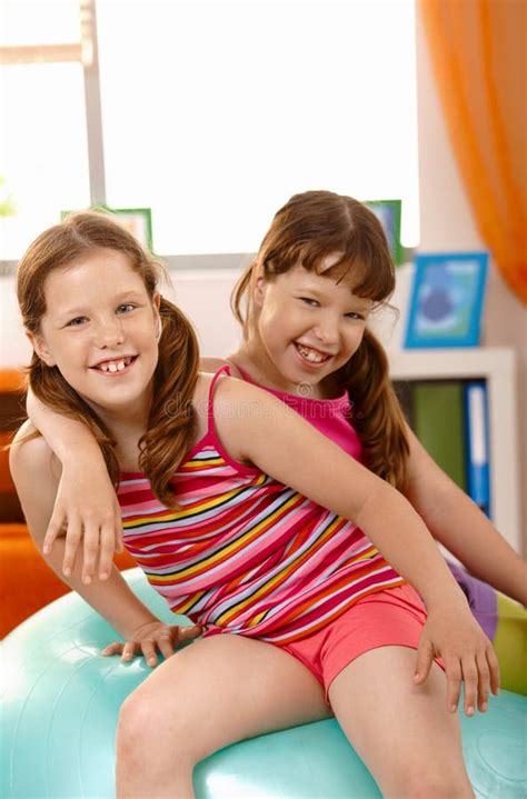
[[[499,666],[493,645],[468,606],[428,612],[417,650],[416,685],[425,682],[436,657],[445,663],[448,709],[456,712],[464,682],[465,713],[474,716],[476,707],[485,712],[489,690],[494,695],[499,691]]]

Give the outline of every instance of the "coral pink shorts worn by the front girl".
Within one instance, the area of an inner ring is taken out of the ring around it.
[[[427,615],[421,598],[402,585],[359,599],[342,616],[295,643],[275,645],[300,660],[322,685],[326,699],[337,675],[378,647],[417,649]],[[439,661],[443,668],[443,663]]]

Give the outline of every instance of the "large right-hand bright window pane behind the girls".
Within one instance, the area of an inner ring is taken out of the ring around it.
[[[414,2],[99,2],[98,29],[107,199],[152,208],[159,252],[252,252],[312,188],[401,198],[417,242]]]

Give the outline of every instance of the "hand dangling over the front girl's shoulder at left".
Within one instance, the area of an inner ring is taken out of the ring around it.
[[[110,576],[115,552],[122,552],[121,510],[106,466],[68,462],[62,468],[53,513],[43,539],[49,555],[56,539],[66,538],[62,571],[73,571],[82,547],[82,581]]]

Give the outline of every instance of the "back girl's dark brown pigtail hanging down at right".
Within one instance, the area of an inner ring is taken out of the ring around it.
[[[402,491],[410,453],[405,417],[389,379],[388,358],[370,330],[365,330],[339,379],[352,402],[352,425],[362,442],[366,466]]]

